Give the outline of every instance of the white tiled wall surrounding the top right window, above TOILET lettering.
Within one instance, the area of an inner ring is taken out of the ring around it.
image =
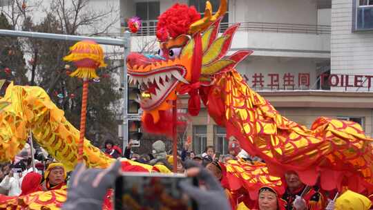
[[[334,74],[373,75],[373,32],[352,32],[352,2],[332,1],[331,71]]]

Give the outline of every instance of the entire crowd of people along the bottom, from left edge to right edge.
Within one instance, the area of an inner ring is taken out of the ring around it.
[[[154,142],[152,152],[141,155],[134,153],[131,146],[130,141],[124,152],[122,152],[119,146],[116,146],[111,140],[107,140],[102,151],[111,158],[126,158],[142,164],[162,165],[166,171],[173,171],[173,156],[166,152],[164,142],[160,140]],[[70,175],[66,173],[64,165],[53,160],[42,149],[37,149],[34,154],[31,154],[28,152],[29,147],[26,144],[25,149],[17,155],[14,162],[0,165],[0,193],[7,196],[19,196],[35,191],[67,189]],[[32,156],[35,158],[34,161],[32,161]],[[242,197],[242,194],[238,198],[238,195],[225,188],[227,182],[224,180],[224,163],[238,158],[251,163],[253,161],[262,161],[260,158],[251,157],[243,151],[239,142],[234,138],[229,139],[229,154],[227,155],[218,155],[213,146],[207,146],[202,154],[195,154],[191,151],[190,142],[187,142],[182,150],[178,152],[176,171],[178,173],[187,173],[187,169],[190,167],[187,164],[188,162],[193,162],[194,166],[200,166],[201,169],[209,171],[210,175],[220,182],[220,186],[224,189],[225,198],[229,201],[232,209],[241,209],[245,204],[253,201],[245,200],[249,197]],[[32,162],[35,162],[35,164],[32,165]],[[258,200],[255,204],[251,203],[251,207],[254,206],[260,210],[331,210],[338,209],[338,206],[342,207],[343,205],[345,205],[344,209],[347,209],[347,206],[350,208],[356,203],[358,203],[358,209],[370,209],[372,204],[368,198],[352,191],[345,192],[349,195],[348,199],[343,200],[346,201],[345,203],[341,199],[343,196],[339,198],[341,202],[336,203],[334,202],[336,191],[322,191],[317,184],[313,187],[307,186],[300,181],[298,174],[294,171],[289,171],[285,174],[283,184],[286,188],[283,195],[280,195],[278,191],[269,186],[262,186],[258,191]],[[343,193],[344,196],[346,196],[345,193]],[[352,202],[351,198],[356,198],[358,202]]]

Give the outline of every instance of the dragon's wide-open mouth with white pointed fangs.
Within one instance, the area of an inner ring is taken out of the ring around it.
[[[183,66],[168,66],[148,72],[128,69],[128,82],[140,85],[140,106],[149,111],[164,102],[179,81],[188,83],[184,79],[186,73]]]

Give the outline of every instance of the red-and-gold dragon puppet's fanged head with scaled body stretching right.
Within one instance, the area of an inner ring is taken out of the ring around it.
[[[227,55],[239,24],[218,37],[227,10],[220,1],[213,15],[207,1],[204,17],[195,8],[175,4],[160,15],[157,55],[131,53],[130,81],[142,87],[142,121],[149,132],[168,133],[171,104],[189,94],[189,113],[198,115],[200,99],[213,120],[240,140],[245,151],[265,160],[269,172],[296,171],[305,184],[325,190],[373,188],[372,139],[354,122],[319,117],[310,129],[288,120],[248,84],[235,66],[252,52]]]

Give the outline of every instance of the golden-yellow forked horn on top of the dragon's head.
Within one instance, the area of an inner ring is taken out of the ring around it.
[[[209,28],[211,23],[215,22],[220,17],[223,17],[225,12],[227,12],[227,0],[220,0],[219,10],[215,15],[212,15],[213,12],[210,1],[206,1],[204,17],[191,24],[189,27],[189,34],[193,35],[195,32],[200,32]]]

